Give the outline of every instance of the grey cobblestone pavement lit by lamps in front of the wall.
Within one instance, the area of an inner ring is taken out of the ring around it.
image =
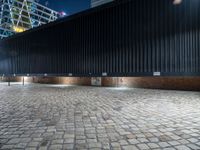
[[[200,150],[200,93],[0,84],[0,149]]]

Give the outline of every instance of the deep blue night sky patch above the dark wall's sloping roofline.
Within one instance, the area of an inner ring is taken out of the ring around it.
[[[90,8],[90,0],[39,0],[39,3],[68,15]]]

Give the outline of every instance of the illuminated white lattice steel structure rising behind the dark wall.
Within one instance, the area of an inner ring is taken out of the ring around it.
[[[58,12],[34,0],[0,0],[0,39],[55,21]]]

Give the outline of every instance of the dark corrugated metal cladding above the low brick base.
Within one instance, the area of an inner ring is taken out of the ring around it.
[[[199,15],[199,0],[118,0],[1,41],[0,73],[200,75]]]

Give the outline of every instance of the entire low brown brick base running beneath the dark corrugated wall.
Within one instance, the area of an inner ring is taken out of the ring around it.
[[[25,82],[43,84],[91,85],[90,77],[25,77]],[[8,81],[3,78],[2,81]],[[10,78],[22,82],[21,77]],[[102,77],[101,86],[200,91],[200,77]]]

